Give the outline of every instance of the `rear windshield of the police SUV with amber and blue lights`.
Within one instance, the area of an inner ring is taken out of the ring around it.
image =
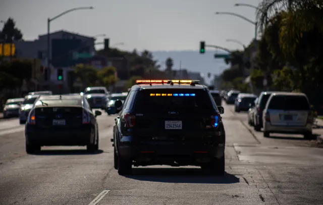
[[[138,92],[135,108],[142,113],[203,114],[216,110],[207,91],[198,89],[149,89]]]

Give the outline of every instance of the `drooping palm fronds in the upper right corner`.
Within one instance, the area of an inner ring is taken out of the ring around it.
[[[263,31],[267,18],[282,15],[280,44],[285,53],[294,53],[297,42],[306,31],[316,28],[323,33],[323,1],[262,0],[257,10],[257,25]]]

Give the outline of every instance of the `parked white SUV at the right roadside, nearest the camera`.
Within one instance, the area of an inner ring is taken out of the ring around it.
[[[302,134],[312,138],[313,116],[304,93],[274,92],[262,115],[263,136],[270,133]]]

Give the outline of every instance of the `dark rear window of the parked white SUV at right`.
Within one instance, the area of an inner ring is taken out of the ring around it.
[[[268,109],[275,110],[310,110],[308,101],[304,96],[273,96]]]

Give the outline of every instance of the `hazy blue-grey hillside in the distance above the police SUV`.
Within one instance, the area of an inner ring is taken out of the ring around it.
[[[151,52],[154,60],[158,61],[158,64],[165,62],[168,57],[174,60],[174,70],[178,70],[180,67],[180,61],[182,62],[182,68],[186,68],[189,71],[201,72],[205,76],[206,82],[207,73],[221,74],[222,71],[230,65],[226,65],[223,59],[214,59],[215,50],[206,50],[205,54],[199,54],[198,50],[182,50],[182,51],[155,51]],[[225,54],[217,52],[217,54]],[[165,66],[165,63],[164,63]]]

